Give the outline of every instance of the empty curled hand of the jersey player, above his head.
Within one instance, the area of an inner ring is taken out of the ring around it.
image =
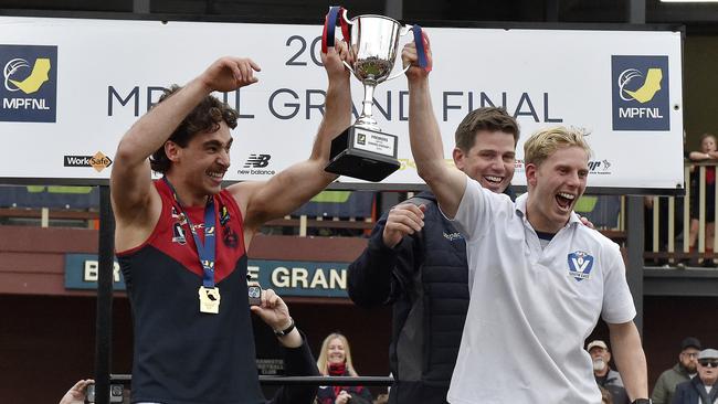
[[[210,92],[232,92],[258,79],[254,72],[262,68],[249,57],[224,56],[212,63],[199,77]]]

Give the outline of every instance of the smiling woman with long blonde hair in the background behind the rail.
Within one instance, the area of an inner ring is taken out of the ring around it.
[[[317,361],[319,372],[325,376],[358,376],[351,361],[347,337],[334,332],[321,342]],[[372,397],[365,386],[319,386],[318,404],[371,404]]]

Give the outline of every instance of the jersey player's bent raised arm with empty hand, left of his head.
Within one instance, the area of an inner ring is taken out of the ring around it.
[[[148,160],[152,152],[165,145],[182,119],[207,95],[213,91],[229,92],[255,83],[257,79],[253,72],[258,70],[249,59],[222,57],[155,106],[123,136],[109,182],[120,233],[126,227],[151,230],[159,216],[160,201],[151,183]]]

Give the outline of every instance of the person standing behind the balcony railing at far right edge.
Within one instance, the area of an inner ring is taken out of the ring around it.
[[[718,159],[718,151],[716,151],[716,136],[712,134],[704,134],[700,137],[700,150],[691,151],[688,155],[690,161],[708,161]],[[690,176],[690,233],[688,243],[690,247],[695,247],[698,237],[699,225],[699,177],[698,171]],[[712,251],[714,236],[716,232],[716,167],[706,167],[706,249]]]

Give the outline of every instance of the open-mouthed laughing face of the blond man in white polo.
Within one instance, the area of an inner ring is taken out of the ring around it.
[[[528,221],[539,232],[557,233],[585,191],[589,156],[578,146],[561,147],[543,162],[526,164]]]

